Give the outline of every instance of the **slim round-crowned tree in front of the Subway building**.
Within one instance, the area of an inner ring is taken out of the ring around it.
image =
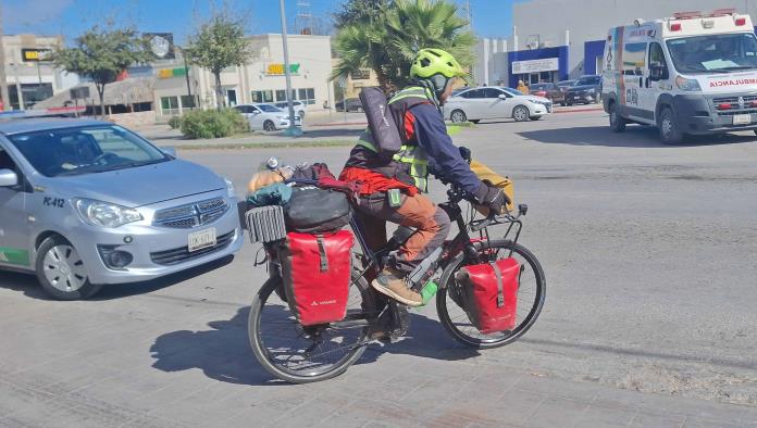
[[[202,24],[184,49],[187,61],[210,71],[215,77],[215,105],[223,108],[221,72],[247,63],[252,49],[245,38],[244,20],[233,18],[227,12],[215,13]]]

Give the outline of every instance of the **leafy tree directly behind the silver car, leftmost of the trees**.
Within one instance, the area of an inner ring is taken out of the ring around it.
[[[74,47],[53,53],[55,66],[88,77],[100,98],[100,114],[106,116],[106,85],[128,66],[146,63],[152,58],[145,40],[134,28],[94,26],[74,40]]]

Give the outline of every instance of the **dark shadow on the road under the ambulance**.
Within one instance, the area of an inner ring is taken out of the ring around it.
[[[608,126],[583,126],[574,128],[537,129],[516,133],[519,136],[547,144],[603,146],[626,148],[674,149],[677,147],[739,144],[754,141],[755,137],[721,134],[688,136],[686,142],[666,146],[660,142],[654,126],[629,125],[624,133],[615,134]]]

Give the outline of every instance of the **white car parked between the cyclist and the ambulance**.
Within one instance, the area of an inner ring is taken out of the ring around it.
[[[551,101],[546,98],[499,86],[462,90],[444,105],[445,118],[455,123],[510,117],[518,122],[536,121],[551,111]]]

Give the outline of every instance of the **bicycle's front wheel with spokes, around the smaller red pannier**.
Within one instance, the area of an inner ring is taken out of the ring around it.
[[[462,286],[455,279],[455,274],[467,262],[464,254],[459,254],[442,275],[439,284],[443,285],[443,288],[436,294],[436,311],[447,332],[467,347],[477,349],[504,347],[523,336],[542,312],[547,287],[544,269],[536,256],[519,243],[493,240],[488,243],[479,243],[476,250],[482,261],[485,262],[507,257],[512,250],[512,257],[521,266],[524,266],[518,287],[518,312],[516,313],[514,329],[484,335],[470,322],[459,297]]]

